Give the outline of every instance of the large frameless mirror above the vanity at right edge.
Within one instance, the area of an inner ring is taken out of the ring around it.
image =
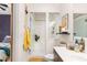
[[[86,13],[74,13],[74,37],[87,37]]]

